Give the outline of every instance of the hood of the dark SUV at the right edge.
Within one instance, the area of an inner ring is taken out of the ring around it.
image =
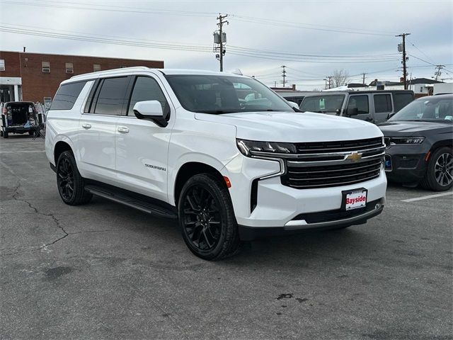
[[[414,122],[414,121],[404,121],[404,120],[395,120],[387,121],[386,123],[379,124],[379,129],[385,136],[418,136],[434,134],[434,133],[443,133],[443,132],[453,132],[453,125],[449,123],[436,123],[436,122]]]

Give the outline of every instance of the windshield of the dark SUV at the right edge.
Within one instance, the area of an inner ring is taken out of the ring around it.
[[[401,108],[389,120],[422,120],[429,122],[453,121],[453,97],[436,98],[435,96],[420,98]]]

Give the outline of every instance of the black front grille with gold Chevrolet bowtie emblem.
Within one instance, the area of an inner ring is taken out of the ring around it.
[[[307,149],[301,149],[304,145]],[[321,146],[326,147],[322,149]],[[367,140],[299,143],[297,159],[286,159],[284,186],[297,189],[346,186],[376,179],[381,173],[384,145],[382,138]],[[360,159],[348,159],[350,154]]]

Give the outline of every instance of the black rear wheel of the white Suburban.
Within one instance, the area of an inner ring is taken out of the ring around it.
[[[85,191],[84,178],[77,169],[76,159],[71,151],[62,152],[58,157],[57,186],[59,196],[68,205],[85,204],[93,197]]]

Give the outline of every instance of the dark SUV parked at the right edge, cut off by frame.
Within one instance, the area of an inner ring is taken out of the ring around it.
[[[453,94],[419,98],[379,125],[390,181],[434,191],[453,185]]]

